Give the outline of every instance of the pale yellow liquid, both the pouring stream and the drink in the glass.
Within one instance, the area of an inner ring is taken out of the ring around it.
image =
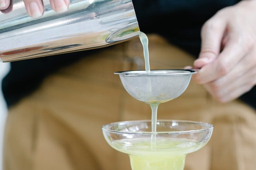
[[[150,73],[148,38],[143,32],[140,33],[143,45],[145,70]],[[149,78],[150,83],[150,78]],[[195,142],[189,142],[185,147],[184,141],[171,139],[156,139],[157,108],[161,101],[148,103],[152,109],[152,135],[151,139],[126,139],[116,140],[112,143],[116,150],[129,154],[133,170],[183,170],[186,153],[184,150],[191,149]],[[188,141],[185,141],[185,143]]]

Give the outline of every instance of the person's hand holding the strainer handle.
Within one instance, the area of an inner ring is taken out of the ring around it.
[[[256,84],[256,1],[223,8],[202,27],[202,47],[193,80],[220,102],[229,102]]]

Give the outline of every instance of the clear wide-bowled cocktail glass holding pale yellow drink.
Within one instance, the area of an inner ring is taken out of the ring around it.
[[[103,135],[114,149],[129,154],[132,170],[183,170],[187,154],[210,140],[208,123],[158,120],[151,132],[151,120],[125,121],[104,125]],[[152,135],[155,142],[151,142]]]

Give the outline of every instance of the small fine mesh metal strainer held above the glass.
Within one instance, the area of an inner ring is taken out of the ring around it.
[[[126,91],[145,103],[164,103],[179,97],[188,87],[193,70],[115,72]]]

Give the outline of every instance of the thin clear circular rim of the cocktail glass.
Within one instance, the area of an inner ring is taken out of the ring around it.
[[[205,129],[198,129],[198,130],[189,130],[189,131],[166,131],[166,132],[125,132],[125,131],[117,131],[117,130],[110,130],[106,129],[106,126],[111,126],[114,124],[120,124],[120,123],[136,123],[136,122],[150,122],[151,120],[132,120],[132,121],[121,121],[121,122],[113,122],[109,124],[105,124],[102,126],[102,130],[105,132],[111,132],[111,133],[122,133],[122,134],[184,134],[184,133],[197,133],[197,132],[205,132],[210,131],[213,129],[213,125],[210,123],[204,123],[204,122],[196,122],[196,121],[188,121],[188,120],[172,120],[172,119],[160,119],[157,120],[157,122],[177,122],[177,123],[188,123],[188,124],[201,124],[208,126],[208,128]]]

